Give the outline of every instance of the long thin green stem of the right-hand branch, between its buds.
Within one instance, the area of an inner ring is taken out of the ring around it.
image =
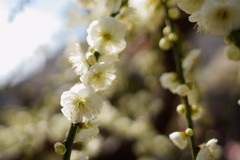
[[[174,23],[169,17],[168,14],[168,6],[166,4],[166,1],[163,2],[164,10],[165,10],[165,16],[166,16],[166,25],[168,25],[171,28],[171,32],[175,32],[174,29]],[[182,68],[182,57],[181,57],[181,47],[180,47],[180,42],[179,40],[175,41],[172,43],[172,49],[173,49],[173,55],[174,55],[174,60],[176,64],[176,72],[178,74],[179,80],[181,84],[185,84],[185,78],[184,78],[184,73],[183,73],[183,68]],[[191,128],[194,131],[194,126],[193,126],[193,121],[191,117],[191,106],[188,101],[188,96],[183,96],[181,97],[183,104],[186,107],[186,122],[187,122],[187,128]],[[189,136],[189,142],[191,146],[191,152],[192,152],[192,159],[195,160],[197,157],[197,147],[196,147],[196,142],[194,138],[194,134],[192,136]]]

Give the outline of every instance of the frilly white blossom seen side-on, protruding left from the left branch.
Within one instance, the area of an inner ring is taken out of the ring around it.
[[[78,43],[70,46],[66,52],[70,54],[68,59],[77,75],[82,75],[88,71],[89,65]]]

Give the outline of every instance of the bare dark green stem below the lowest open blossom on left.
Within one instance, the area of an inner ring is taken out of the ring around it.
[[[71,157],[71,153],[72,153],[72,146],[73,146],[73,141],[76,135],[76,131],[77,131],[77,127],[78,127],[78,123],[71,124],[70,130],[68,132],[67,135],[67,140],[65,142],[65,147],[66,147],[66,153],[63,155],[63,160],[70,160]]]

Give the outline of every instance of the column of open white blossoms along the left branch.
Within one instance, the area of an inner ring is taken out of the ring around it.
[[[77,2],[87,8],[97,3],[84,0]],[[120,0],[104,1],[108,6],[106,8],[111,8],[111,14],[119,11],[121,3]],[[63,115],[77,125],[73,143],[86,141],[99,132],[96,118],[103,106],[104,93],[116,81],[115,63],[119,53],[126,48],[127,26],[118,19],[124,19],[122,12],[118,16],[102,16],[92,21],[87,29],[88,49],[83,51],[82,46],[76,43],[67,51],[69,61],[80,79],[70,90],[63,92],[60,102]],[[56,152],[59,152],[58,148],[61,146],[55,147]]]

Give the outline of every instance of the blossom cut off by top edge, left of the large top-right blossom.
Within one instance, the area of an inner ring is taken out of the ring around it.
[[[179,8],[188,14],[198,11],[205,0],[177,0]]]

